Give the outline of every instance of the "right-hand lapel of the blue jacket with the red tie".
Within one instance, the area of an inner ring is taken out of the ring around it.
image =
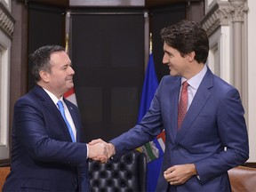
[[[209,88],[213,86],[212,84],[212,72],[208,68],[201,84],[198,87],[195,98],[192,101],[190,107],[188,108],[188,112],[183,120],[183,123],[180,127],[180,131],[177,132],[176,142],[179,143],[180,140],[185,136],[188,132],[189,128],[196,120],[196,117],[200,114],[202,108],[204,108],[205,103],[211,97],[211,92],[209,92]],[[177,109],[178,110],[178,109]],[[176,121],[177,123],[177,121]]]

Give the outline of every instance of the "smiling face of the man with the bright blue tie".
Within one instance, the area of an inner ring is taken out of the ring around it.
[[[52,52],[50,64],[50,71],[40,71],[40,85],[60,99],[65,92],[74,86],[75,71],[66,52]]]

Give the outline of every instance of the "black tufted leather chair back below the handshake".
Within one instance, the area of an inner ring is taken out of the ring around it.
[[[146,191],[147,159],[145,154],[132,151],[118,161],[100,164],[89,162],[92,192]]]

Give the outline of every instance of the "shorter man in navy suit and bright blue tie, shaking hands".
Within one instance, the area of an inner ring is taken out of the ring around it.
[[[63,98],[74,86],[71,60],[63,47],[47,45],[31,55],[31,64],[36,86],[14,106],[11,173],[3,191],[90,191],[87,159],[103,156],[106,147],[84,142],[78,108]]]

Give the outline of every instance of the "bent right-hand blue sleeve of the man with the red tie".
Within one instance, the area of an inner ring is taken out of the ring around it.
[[[244,108],[239,92],[234,88],[228,89],[223,100],[220,100],[217,127],[224,149],[214,156],[196,162],[196,171],[203,184],[230,168],[244,164],[249,157]]]

